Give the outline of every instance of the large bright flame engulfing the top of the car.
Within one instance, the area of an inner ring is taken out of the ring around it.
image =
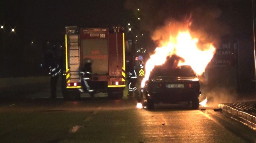
[[[146,73],[141,87],[145,86],[153,68],[164,64],[167,57],[181,57],[184,60],[179,60],[178,66],[190,65],[198,75],[202,75],[215,53],[212,43],[200,44],[198,38],[191,36],[188,28],[178,31],[177,35],[170,35],[167,42],[161,41],[161,44],[163,46],[157,47],[146,62]]]

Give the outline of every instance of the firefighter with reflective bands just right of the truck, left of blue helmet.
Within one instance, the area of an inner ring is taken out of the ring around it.
[[[129,72],[129,82],[128,82],[128,97],[133,96],[133,92],[135,96],[139,95],[139,91],[136,87],[136,83],[138,80],[138,71],[136,70],[136,66]]]

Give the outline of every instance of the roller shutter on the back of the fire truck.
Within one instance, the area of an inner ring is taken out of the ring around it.
[[[83,39],[83,64],[86,58],[91,58],[92,75],[106,75],[109,73],[108,67],[108,41],[107,39]]]

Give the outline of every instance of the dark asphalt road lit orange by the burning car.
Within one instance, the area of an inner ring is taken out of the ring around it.
[[[160,104],[149,111],[126,96],[83,94],[79,101],[66,101],[60,90],[59,98],[48,99],[44,85],[26,87],[1,91],[0,143],[256,142],[254,131],[212,109]]]

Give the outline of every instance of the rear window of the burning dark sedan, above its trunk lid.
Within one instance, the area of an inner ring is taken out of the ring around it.
[[[194,73],[193,69],[188,65],[182,65],[178,68],[165,68],[163,66],[156,66],[152,70],[150,76],[196,77],[196,74]]]

